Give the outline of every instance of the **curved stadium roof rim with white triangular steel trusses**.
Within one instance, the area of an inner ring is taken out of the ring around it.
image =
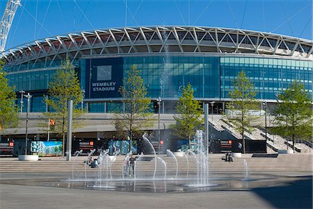
[[[2,53],[6,65],[136,53],[232,53],[313,60],[313,41],[233,28],[154,26],[57,35]]]

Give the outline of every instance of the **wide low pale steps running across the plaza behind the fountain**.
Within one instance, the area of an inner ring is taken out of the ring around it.
[[[247,160],[249,170],[252,173],[257,172],[310,172],[313,169],[313,156],[311,154],[280,154],[278,158],[254,158],[251,154],[243,154],[242,158],[234,158],[234,162],[225,162],[222,160],[223,154],[210,154],[209,167],[212,173],[220,172],[243,172],[243,160]],[[176,162],[174,158],[161,156],[166,162],[168,175],[174,175],[176,171]],[[72,162],[65,160],[54,160],[52,158],[43,158],[37,162],[18,161],[17,158],[0,158],[0,173],[8,172],[71,172],[88,173],[99,172],[98,168],[85,166],[83,160],[79,157],[72,167]],[[118,156],[112,165],[112,174],[122,175],[124,156]],[[186,158],[177,158],[179,175],[185,175],[188,170]],[[195,174],[197,165],[193,156],[188,156],[189,172]],[[154,160],[137,162],[137,171],[151,173],[154,171]],[[157,161],[158,172],[163,170],[160,160]],[[159,174],[159,173],[158,173]]]

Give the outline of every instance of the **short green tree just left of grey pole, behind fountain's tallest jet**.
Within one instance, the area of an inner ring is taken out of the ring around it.
[[[194,99],[191,84],[183,87],[182,97],[179,97],[176,110],[177,114],[174,115],[176,124],[172,124],[170,128],[177,137],[188,139],[190,149],[195,131],[202,128],[204,123],[200,101]]]

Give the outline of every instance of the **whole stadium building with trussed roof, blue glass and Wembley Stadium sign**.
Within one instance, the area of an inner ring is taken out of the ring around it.
[[[147,26],[47,37],[4,51],[2,56],[9,85],[15,86],[19,98],[17,105],[21,104],[21,90],[33,95],[30,112],[47,111],[43,100],[48,83],[61,62],[69,58],[85,92],[81,105],[88,112],[106,113],[120,106],[118,88],[126,70],[136,65],[154,112],[158,112],[157,99],[161,97],[161,113],[165,115],[175,112],[175,101],[188,83],[196,99],[214,101],[210,114],[223,112],[232,81],[241,70],[255,84],[257,99],[266,101],[270,109],[277,95],[295,79],[312,97],[312,52],[312,40],[286,35],[232,28]],[[113,127],[93,126],[78,132],[86,133],[85,137],[97,133],[93,135],[97,138],[105,131],[113,131]]]

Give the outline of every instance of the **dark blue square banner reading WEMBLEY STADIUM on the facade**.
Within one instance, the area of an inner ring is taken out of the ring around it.
[[[86,60],[86,99],[116,98],[123,79],[123,58]]]

